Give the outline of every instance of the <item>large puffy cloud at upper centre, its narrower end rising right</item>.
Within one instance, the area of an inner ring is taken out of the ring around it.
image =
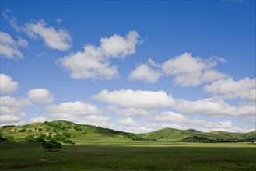
[[[87,44],[84,51],[69,54],[59,60],[73,79],[114,79],[118,76],[116,65],[111,65],[111,58],[125,58],[135,53],[139,44],[139,34],[130,31],[125,37],[114,35],[101,38],[100,46]]]

